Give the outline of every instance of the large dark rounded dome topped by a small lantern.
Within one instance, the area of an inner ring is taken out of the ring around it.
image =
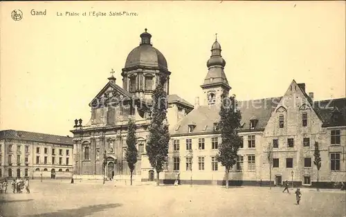
[[[167,70],[167,61],[163,54],[152,46],[150,39],[152,35],[147,32],[140,34],[140,45],[127,55],[125,62],[125,68],[131,68],[134,66],[149,66],[164,68]]]

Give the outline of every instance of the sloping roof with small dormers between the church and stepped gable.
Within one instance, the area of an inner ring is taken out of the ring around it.
[[[257,124],[253,131],[263,130],[282,97],[273,97],[260,100],[239,101],[238,108],[242,113],[242,129],[240,131],[249,131],[249,121],[253,116],[257,119]],[[192,133],[212,133],[214,132],[214,123],[219,122],[218,104],[212,106],[199,106],[186,115],[174,128],[170,134],[178,135],[188,133],[188,125],[196,124]]]

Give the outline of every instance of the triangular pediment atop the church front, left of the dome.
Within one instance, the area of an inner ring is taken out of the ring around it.
[[[108,83],[102,90],[96,95],[89,106],[99,107],[107,104],[118,104],[131,100],[131,94],[127,93],[124,89],[116,84]]]

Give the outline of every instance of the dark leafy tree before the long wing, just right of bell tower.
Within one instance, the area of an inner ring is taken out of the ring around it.
[[[216,158],[225,167],[226,188],[228,188],[230,169],[236,164],[237,152],[242,144],[242,138],[239,137],[237,132],[242,115],[237,109],[235,95],[228,97],[226,92],[222,93],[219,115],[220,120],[217,129],[221,131],[222,141]]]

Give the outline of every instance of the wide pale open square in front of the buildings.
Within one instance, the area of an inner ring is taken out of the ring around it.
[[[30,194],[0,195],[0,216],[346,216],[345,191],[219,186],[117,186],[36,180]]]

